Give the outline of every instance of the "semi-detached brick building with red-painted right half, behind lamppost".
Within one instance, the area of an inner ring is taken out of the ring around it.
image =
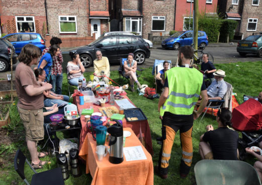
[[[200,14],[216,14],[218,0],[199,0]],[[182,31],[190,17],[191,0],[109,0],[110,18],[119,20],[119,31],[137,32],[147,38]],[[193,4],[192,4],[193,17]]]

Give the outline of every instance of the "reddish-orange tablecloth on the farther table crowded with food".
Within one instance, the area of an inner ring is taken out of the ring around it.
[[[77,90],[74,90],[74,93],[76,93],[76,92],[77,92]],[[126,95],[124,95],[123,97],[125,99],[127,99],[130,103],[132,103]],[[100,112],[98,110],[98,108],[101,108],[101,107],[96,106],[93,103],[84,103],[84,105],[79,105],[79,97],[73,97],[73,103],[77,106],[78,112],[80,112],[81,109],[88,109],[88,108],[90,108],[90,106],[93,107],[94,112]],[[111,107],[111,106],[112,105],[110,105],[110,104],[106,104],[106,107]],[[114,106],[119,109],[119,107],[116,103],[115,103]],[[85,139],[85,135],[88,133],[88,128],[86,126],[86,122],[84,121],[84,116],[81,116],[80,121],[81,121],[82,129],[81,129],[81,134],[80,134],[79,149],[81,149],[82,144],[83,144],[84,139]],[[89,122],[89,124],[90,124],[90,122]],[[135,135],[138,138],[140,137],[140,128],[141,128],[142,138],[143,138],[143,141],[144,141],[143,144],[144,144],[145,148],[147,149],[147,151],[151,155],[153,155],[151,133],[150,133],[150,128],[149,128],[149,124],[148,124],[147,120],[136,121],[136,122],[127,122],[126,119],[124,118],[123,127],[124,128],[130,127],[134,131]]]

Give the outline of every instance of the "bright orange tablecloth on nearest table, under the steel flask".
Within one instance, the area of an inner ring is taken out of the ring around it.
[[[102,161],[99,161],[96,154],[97,143],[93,140],[92,134],[88,133],[79,151],[79,156],[86,161],[86,172],[90,172],[93,177],[92,185],[153,184],[154,172],[151,155],[131,128],[124,128],[124,130],[131,132],[131,136],[126,138],[125,147],[141,145],[147,159],[126,161],[124,157],[122,163],[112,164],[109,162],[109,154],[107,154]],[[87,158],[86,154],[88,154]]]

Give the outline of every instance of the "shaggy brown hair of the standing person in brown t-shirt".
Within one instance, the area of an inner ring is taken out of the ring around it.
[[[21,53],[18,56],[18,60],[25,63],[26,65],[29,65],[33,58],[38,57],[40,57],[39,47],[32,44],[27,44],[22,48]]]

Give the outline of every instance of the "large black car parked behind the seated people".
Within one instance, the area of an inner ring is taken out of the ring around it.
[[[137,64],[144,63],[150,57],[147,43],[140,36],[111,35],[100,37],[89,45],[76,48],[84,67],[90,67],[96,59],[96,51],[100,50],[109,62],[120,62],[120,58],[127,58],[128,53],[134,53]]]

